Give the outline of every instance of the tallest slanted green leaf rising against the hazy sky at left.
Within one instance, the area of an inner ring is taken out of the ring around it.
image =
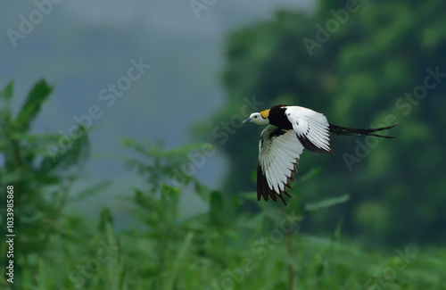
[[[14,120],[16,128],[21,131],[29,129],[31,121],[36,118],[42,104],[52,91],[53,87],[48,86],[45,80],[37,82],[31,88],[25,103],[21,106],[21,111]]]

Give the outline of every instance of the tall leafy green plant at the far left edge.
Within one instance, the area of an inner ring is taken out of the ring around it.
[[[26,284],[21,275],[23,269],[29,271],[28,275],[36,274],[38,261],[47,259],[47,250],[52,251],[50,239],[65,234],[60,218],[76,179],[69,170],[81,165],[87,153],[85,128],[78,128],[78,138],[65,143],[69,146],[59,151],[54,148],[64,136],[30,133],[33,120],[52,90],[45,80],[38,81],[15,117],[11,108],[13,82],[0,92],[0,188],[4,188],[0,199],[6,201],[5,188],[12,186],[13,231],[9,233],[16,235],[13,261],[14,285],[18,287]],[[48,150],[48,145],[53,145],[53,149]],[[6,213],[1,211],[4,221]],[[6,228],[1,231],[5,236]],[[0,249],[1,264],[5,265],[6,244]],[[30,284],[35,282],[34,275],[27,278]]]

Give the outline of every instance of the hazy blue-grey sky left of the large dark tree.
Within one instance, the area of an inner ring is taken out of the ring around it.
[[[277,8],[310,12],[313,2],[36,0],[4,6],[0,86],[15,80],[15,112],[31,85],[46,79],[54,93],[34,132],[67,132],[97,106],[91,152],[123,155],[120,137],[161,139],[168,147],[193,142],[194,123],[225,101],[219,73],[227,33],[271,18]],[[110,85],[118,93],[111,94]],[[216,154],[197,174],[218,186],[224,172],[224,158]],[[121,162],[108,159],[92,159],[86,173],[88,184],[113,179],[111,191],[134,180]]]

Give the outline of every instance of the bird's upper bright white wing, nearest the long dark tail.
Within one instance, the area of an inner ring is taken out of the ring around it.
[[[305,149],[318,153],[331,151],[330,125],[326,116],[298,106],[288,107],[285,115]]]

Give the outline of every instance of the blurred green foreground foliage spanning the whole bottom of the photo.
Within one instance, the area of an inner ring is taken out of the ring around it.
[[[10,112],[8,107],[1,110]],[[7,118],[2,121],[9,124]],[[342,221],[331,238],[300,233],[304,217],[339,207],[349,195],[305,203],[294,189],[287,207],[259,203],[258,211],[251,213],[240,209],[252,204],[253,192],[224,195],[189,175],[174,185],[178,168],[203,148],[198,144],[167,150],[162,143],[122,139],[134,154],[125,162],[128,170],[135,170],[145,182],[129,190],[126,229],[116,229],[118,218],[107,208],[97,211],[99,221],[91,227],[83,209],[78,215],[64,212],[66,203],[110,194],[110,182],[104,181],[70,198],[78,174],[67,170],[85,158],[87,150],[69,149],[66,161],[72,162],[51,166],[43,148],[54,136],[14,129],[6,126],[1,131],[7,142],[1,147],[0,186],[14,186],[14,231],[20,239],[14,250],[14,284],[5,281],[3,267],[2,289],[444,288],[443,249],[422,252],[410,246],[368,253],[343,240]],[[87,143],[78,141],[72,147],[81,145]],[[9,160],[14,150],[21,156],[19,162]],[[319,172],[310,170],[296,182],[313,184]],[[207,208],[185,217],[181,204],[190,190]],[[5,243],[0,245],[2,264],[6,251]]]

